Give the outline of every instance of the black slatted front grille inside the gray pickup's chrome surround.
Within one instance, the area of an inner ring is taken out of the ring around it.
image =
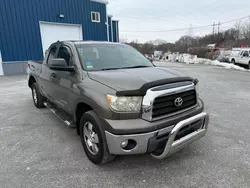
[[[183,104],[177,107],[174,103],[175,99],[181,97]],[[170,115],[172,113],[192,107],[197,103],[196,91],[190,90],[168,96],[157,97],[153,103],[152,119],[161,116]]]

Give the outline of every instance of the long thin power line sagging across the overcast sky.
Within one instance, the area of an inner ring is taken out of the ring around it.
[[[230,23],[230,22],[235,22],[235,21],[238,21],[238,20],[242,20],[242,19],[245,19],[245,18],[249,18],[249,15],[248,16],[244,16],[244,17],[241,17],[241,18],[237,18],[237,19],[233,19],[233,20],[228,20],[228,21],[225,21],[225,22],[219,22],[218,24],[209,24],[209,25],[203,25],[203,26],[196,26],[196,27],[192,27],[192,29],[200,29],[200,28],[207,28],[207,27],[215,27],[215,26],[218,26],[218,30],[219,30],[219,27],[222,25],[222,24],[226,24],[226,23]],[[140,32],[140,33],[161,33],[161,32],[172,32],[172,31],[183,31],[183,30],[188,30],[190,29],[189,28],[177,28],[177,29],[167,29],[167,30],[134,30],[134,31],[120,31],[120,32],[123,32],[123,33],[136,33],[136,32]]]

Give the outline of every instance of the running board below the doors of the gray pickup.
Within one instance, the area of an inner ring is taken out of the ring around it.
[[[57,108],[52,103],[46,101],[43,103],[53,114],[55,114],[63,123],[65,123],[69,128],[75,129],[76,125],[73,120],[67,115],[63,110]]]

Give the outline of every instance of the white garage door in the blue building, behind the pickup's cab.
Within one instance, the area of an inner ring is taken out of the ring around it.
[[[40,31],[43,53],[58,40],[82,40],[81,25],[40,22]]]

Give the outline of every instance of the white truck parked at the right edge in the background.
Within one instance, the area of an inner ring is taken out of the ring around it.
[[[250,48],[233,48],[229,61],[250,69]]]

